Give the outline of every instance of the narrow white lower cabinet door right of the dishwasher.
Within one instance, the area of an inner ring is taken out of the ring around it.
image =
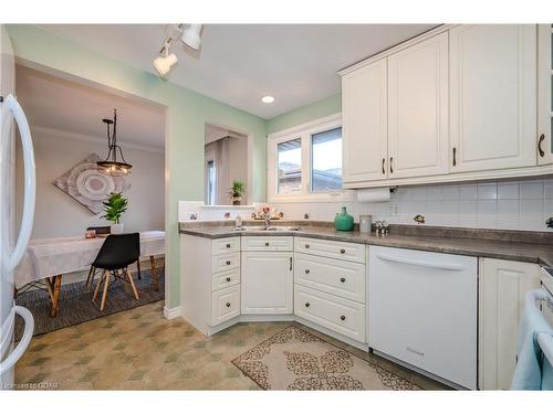
[[[540,286],[534,263],[480,258],[479,388],[509,390],[524,294]]]

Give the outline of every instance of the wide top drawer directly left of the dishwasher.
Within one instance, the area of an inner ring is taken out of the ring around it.
[[[295,252],[365,263],[365,245],[357,243],[295,237]]]

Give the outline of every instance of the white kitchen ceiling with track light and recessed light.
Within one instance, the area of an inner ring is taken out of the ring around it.
[[[201,51],[171,49],[170,82],[272,118],[340,92],[336,72],[436,24],[206,24]],[[156,73],[165,24],[43,24],[44,30]],[[260,97],[273,95],[273,104]]]

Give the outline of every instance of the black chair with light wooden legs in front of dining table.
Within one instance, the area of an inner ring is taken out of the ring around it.
[[[138,233],[128,234],[109,234],[102,247],[100,248],[96,259],[92,266],[96,269],[102,269],[94,296],[92,300],[95,301],[100,291],[100,286],[104,284],[104,291],[102,295],[102,302],[100,310],[104,310],[105,299],[107,296],[107,288],[117,279],[128,282],[135,299],[138,300],[138,293],[133,280],[133,276],[128,272],[128,265],[135,263],[140,256],[140,235]],[[113,277],[113,282],[112,280]]]

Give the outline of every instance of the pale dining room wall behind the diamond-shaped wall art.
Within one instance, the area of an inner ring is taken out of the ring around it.
[[[66,134],[55,134],[32,128],[36,161],[36,209],[32,238],[84,235],[87,226],[108,225],[102,215],[94,215],[75,200],[52,184],[52,181],[80,161],[95,152],[106,155],[106,141],[71,139]],[[159,150],[133,149],[122,145],[125,159],[133,164],[127,176],[131,189],[128,210],[122,222],[125,231],[163,230],[165,209],[165,161]],[[18,147],[17,210],[22,205],[21,148]],[[19,223],[20,216],[17,217]]]

